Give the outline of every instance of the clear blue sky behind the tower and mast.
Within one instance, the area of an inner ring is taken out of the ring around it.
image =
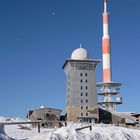
[[[140,1],[108,0],[118,111],[140,112]],[[65,110],[62,65],[82,46],[102,59],[103,0],[0,0],[0,116],[41,105]],[[102,63],[97,82],[102,81]]]

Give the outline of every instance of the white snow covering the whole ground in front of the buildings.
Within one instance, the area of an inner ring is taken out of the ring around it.
[[[7,118],[0,117],[0,122],[5,122]],[[24,121],[19,118],[12,118],[8,121]],[[30,130],[21,129],[19,125],[0,126],[0,140],[140,140],[140,130],[117,127],[113,125],[93,124],[92,131],[89,128],[78,130],[88,124],[69,123],[67,127],[41,129],[30,125],[23,125]]]

